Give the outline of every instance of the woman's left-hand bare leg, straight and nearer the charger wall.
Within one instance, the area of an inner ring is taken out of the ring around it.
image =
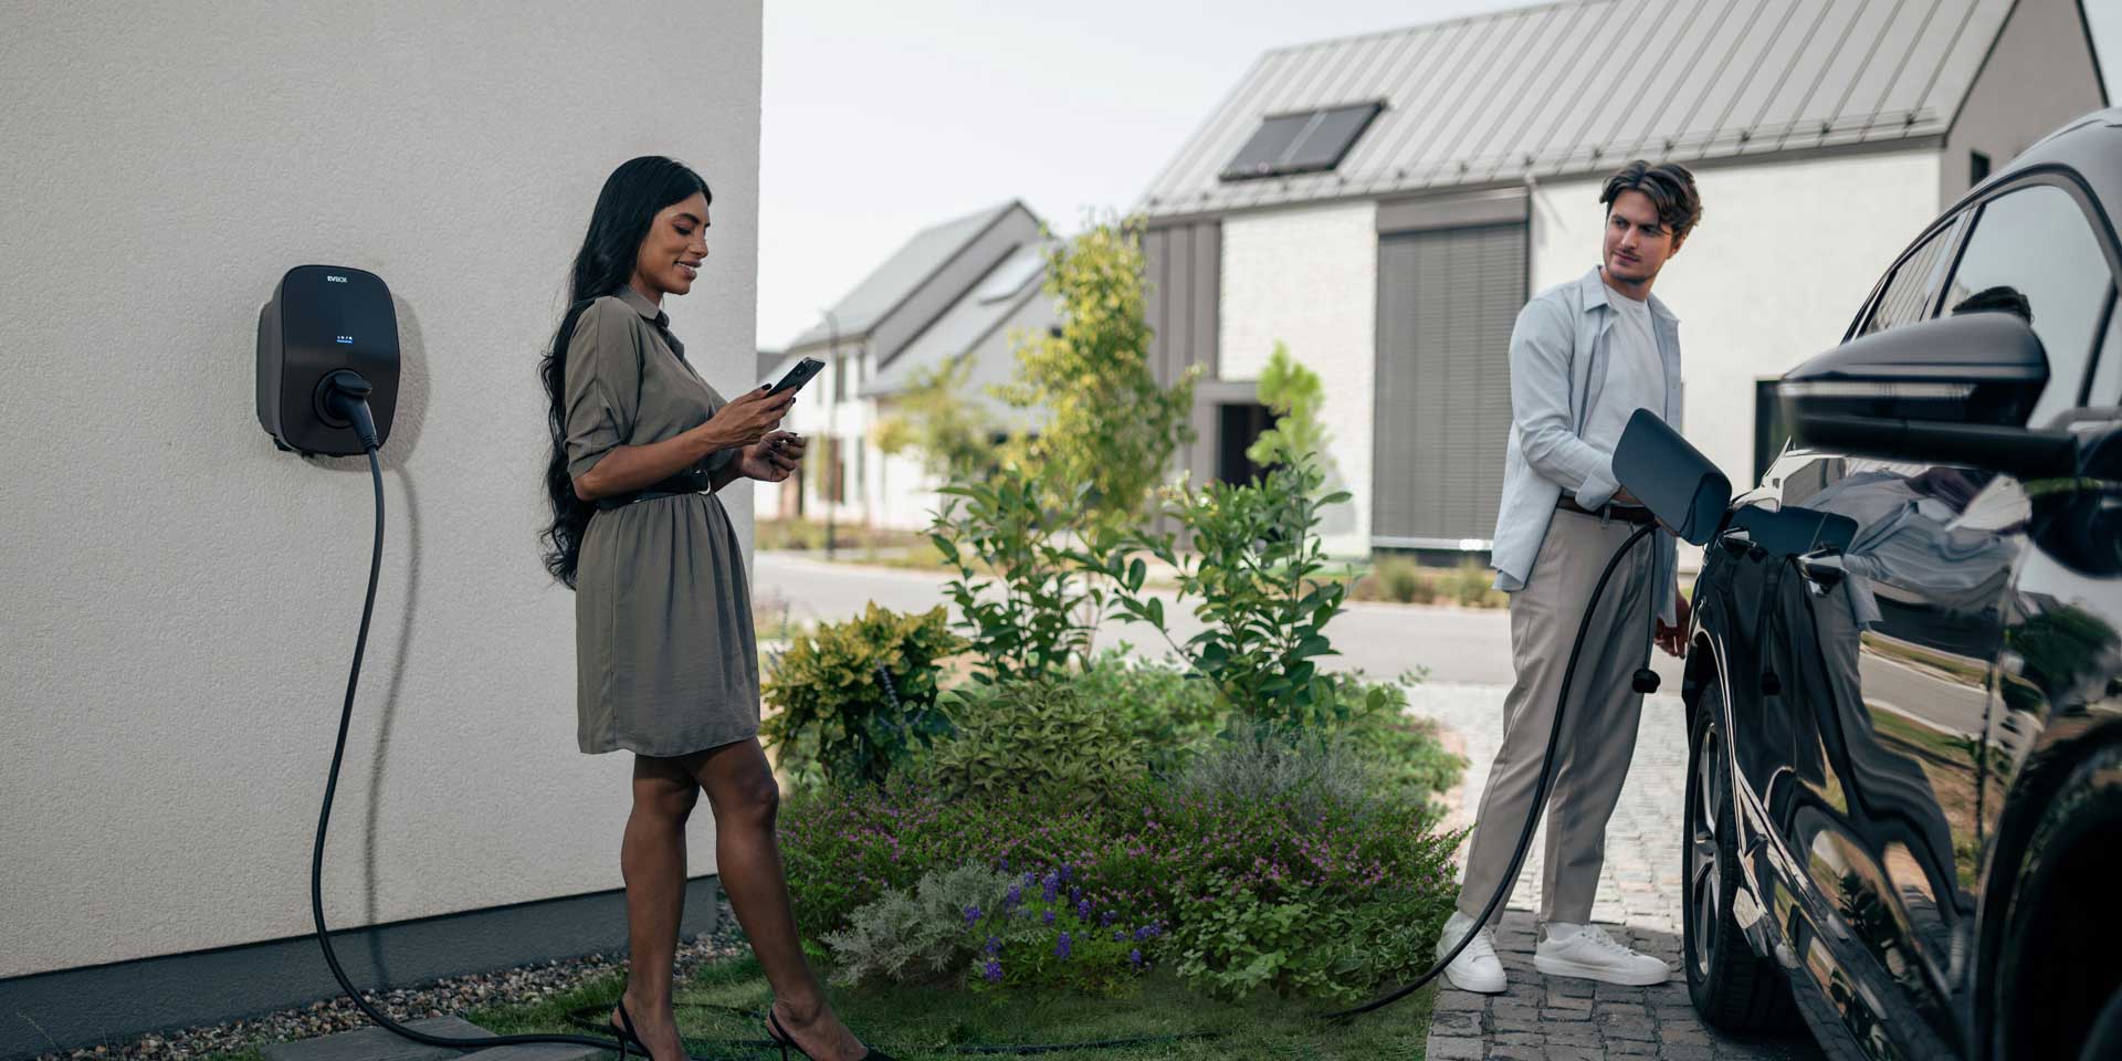
[[[681,760],[634,755],[634,811],[620,842],[626,876],[626,1016],[656,1061],[683,1061],[671,1010],[677,927],[685,917],[685,819],[700,785]],[[620,1029],[620,1010],[611,1010]]]

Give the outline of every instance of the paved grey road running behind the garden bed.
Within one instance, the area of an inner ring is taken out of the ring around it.
[[[876,601],[895,611],[929,609],[944,603],[946,579],[927,571],[891,571],[857,564],[828,564],[798,554],[762,552],[753,560],[751,594],[772,607],[787,605],[794,620],[845,620]],[[1169,601],[1169,594],[1165,594]],[[1201,630],[1193,615],[1167,605],[1173,641]],[[1341,649],[1337,668],[1362,668],[1390,679],[1411,666],[1428,666],[1430,681],[1479,685],[1511,683],[1511,618],[1502,609],[1411,607],[1358,601],[1328,628]],[[1114,624],[1099,630],[1097,645],[1129,641],[1144,656],[1167,647],[1150,626]],[[1676,660],[1655,654],[1666,690],[1679,690]]]

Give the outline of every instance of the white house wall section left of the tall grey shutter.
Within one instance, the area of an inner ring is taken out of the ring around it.
[[[1326,382],[1328,454],[1350,505],[1326,514],[1328,552],[1371,541],[1371,420],[1377,376],[1377,204],[1222,221],[1220,380],[1258,380],[1275,342]]]

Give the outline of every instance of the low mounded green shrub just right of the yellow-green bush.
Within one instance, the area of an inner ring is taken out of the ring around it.
[[[1146,743],[1067,679],[974,685],[946,709],[957,732],[934,747],[927,772],[949,796],[1103,800],[1144,772]]]

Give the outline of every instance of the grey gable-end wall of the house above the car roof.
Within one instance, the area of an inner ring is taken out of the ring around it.
[[[2018,0],[1946,134],[1940,210],[1973,187],[1971,153],[1988,155],[1990,172],[2003,170],[2035,140],[2103,106],[2107,93],[2077,0]]]

